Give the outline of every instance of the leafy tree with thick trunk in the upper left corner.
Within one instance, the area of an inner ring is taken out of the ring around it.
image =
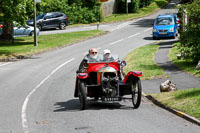
[[[26,7],[31,6],[31,0],[0,0],[0,22],[3,22],[3,33],[0,40],[11,41],[13,36],[13,21],[24,25],[27,18]]]

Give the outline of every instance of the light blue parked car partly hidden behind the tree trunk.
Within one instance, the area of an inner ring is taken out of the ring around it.
[[[32,27],[32,26],[23,27],[18,24],[13,24],[13,26],[14,26],[14,29],[13,29],[14,37],[34,35],[34,27]],[[3,24],[2,24],[2,27],[3,27]],[[3,28],[0,28],[0,35],[2,34],[2,32],[3,32]],[[38,28],[36,29],[36,33],[37,33],[37,35],[39,35],[39,33],[40,33],[40,30]]]

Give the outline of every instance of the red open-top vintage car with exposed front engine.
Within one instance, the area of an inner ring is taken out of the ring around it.
[[[79,97],[80,109],[86,109],[88,98],[100,101],[121,101],[125,95],[132,95],[134,108],[141,103],[142,72],[131,71],[122,79],[121,69],[125,61],[119,61],[117,56],[113,61],[87,61],[77,70],[74,97]]]

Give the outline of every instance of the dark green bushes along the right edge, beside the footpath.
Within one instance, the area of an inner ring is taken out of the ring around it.
[[[179,50],[184,58],[192,59],[195,62],[200,60],[200,0],[194,0],[191,4],[182,5],[179,14],[183,20],[183,13],[187,11],[189,23],[184,25],[180,34]]]

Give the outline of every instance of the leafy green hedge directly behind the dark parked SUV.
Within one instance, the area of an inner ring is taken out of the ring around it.
[[[37,11],[38,14],[63,12],[69,17],[70,24],[93,23],[102,18],[100,3],[96,0],[43,0],[37,4]]]

